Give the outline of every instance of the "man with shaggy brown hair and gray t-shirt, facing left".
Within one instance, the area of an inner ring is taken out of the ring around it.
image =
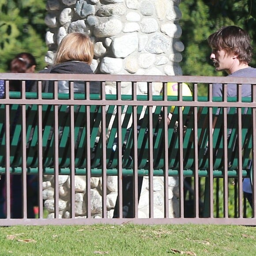
[[[252,60],[251,40],[247,32],[238,26],[223,26],[208,37],[217,71],[226,71],[233,77],[256,77],[256,68],[249,66]],[[213,97],[222,97],[222,84],[213,84]],[[228,84],[227,96],[237,96],[237,84]],[[252,96],[251,84],[242,84],[242,97]],[[252,187],[249,178],[243,181],[243,191],[252,206]]]

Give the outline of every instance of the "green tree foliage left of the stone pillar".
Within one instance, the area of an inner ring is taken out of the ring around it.
[[[0,72],[8,72],[10,60],[18,53],[32,53],[45,66],[45,0],[0,0]]]

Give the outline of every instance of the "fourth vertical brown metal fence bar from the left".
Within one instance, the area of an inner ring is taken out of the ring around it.
[[[58,99],[58,81],[54,81],[54,99]],[[54,105],[54,218],[59,218],[59,115]]]

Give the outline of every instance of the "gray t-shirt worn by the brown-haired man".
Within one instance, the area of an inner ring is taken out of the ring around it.
[[[228,75],[234,77],[256,77],[256,68],[243,68],[233,72],[233,74]],[[236,97],[237,96],[237,85],[234,83],[228,84],[227,88],[227,97]],[[222,84],[214,83],[212,87],[213,97],[222,97]],[[251,84],[242,85],[242,97],[251,97],[252,95],[252,86]]]

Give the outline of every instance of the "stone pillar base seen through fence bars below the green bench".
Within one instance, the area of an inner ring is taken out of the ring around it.
[[[91,215],[93,218],[102,217],[102,179],[93,177],[91,186]],[[163,178],[154,178],[154,218],[164,217],[164,195]],[[43,199],[45,208],[49,211],[48,218],[54,218],[54,180],[52,175],[45,175],[43,182]],[[60,218],[70,218],[70,177],[68,175],[59,176],[59,211]],[[179,215],[178,203],[179,189],[178,179],[169,177],[169,217]],[[117,200],[117,177],[107,176],[107,216],[113,217],[114,207]],[[86,177],[75,176],[75,216],[79,218],[87,217],[86,209]],[[149,217],[149,185],[148,177],[143,179],[142,192],[139,200],[139,218]]]

